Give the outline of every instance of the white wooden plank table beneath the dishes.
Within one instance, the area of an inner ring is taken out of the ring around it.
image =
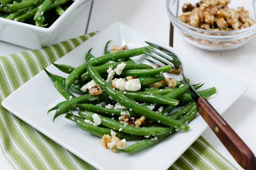
[[[113,22],[122,22],[168,45],[170,22],[165,8],[165,0],[95,0],[88,32],[101,31]],[[205,51],[188,44],[176,31],[174,32],[174,48],[250,86],[249,90],[223,114],[223,117],[256,154],[255,44],[256,37],[243,47],[232,51]],[[0,56],[23,50],[27,49],[0,42]],[[206,130],[202,136],[238,169],[241,169],[210,129]],[[0,164],[4,165],[1,167],[3,169],[13,169],[1,151]]]

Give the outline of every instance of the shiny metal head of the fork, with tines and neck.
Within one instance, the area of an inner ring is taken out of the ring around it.
[[[175,76],[176,79],[178,78],[178,80],[182,81],[184,84],[188,84],[188,81],[184,75],[184,66],[182,64],[182,61],[178,57],[178,55],[176,55],[173,51],[165,47],[162,47],[161,45],[158,45],[149,41],[145,41],[145,42],[159,50],[158,52],[156,50],[147,48],[152,53],[147,53],[146,51],[144,51],[144,53],[147,54],[147,56],[144,56],[146,60],[156,63],[157,65],[160,65],[160,66],[171,65],[171,67],[173,68],[173,71],[168,74],[170,74],[172,77]],[[173,73],[179,73],[179,76],[177,77],[177,74],[175,75]]]

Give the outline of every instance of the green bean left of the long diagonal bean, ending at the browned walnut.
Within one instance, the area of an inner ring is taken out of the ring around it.
[[[121,116],[121,112],[126,112],[130,116],[137,117],[136,114],[134,114],[132,111],[129,110],[123,110],[123,109],[108,109],[105,107],[99,107],[93,104],[75,104],[74,106],[77,106],[83,110],[92,111],[98,114],[104,114],[109,116]]]

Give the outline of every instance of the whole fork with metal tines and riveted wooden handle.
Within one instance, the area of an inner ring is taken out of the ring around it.
[[[147,48],[151,53],[144,51],[147,56],[144,58],[159,66],[171,65],[175,73],[179,73],[176,79],[182,80],[184,84],[189,84],[184,74],[184,66],[180,58],[171,50],[157,45],[152,42],[145,41],[147,44],[158,49],[161,52]],[[189,86],[189,91],[193,100],[197,103],[197,111],[203,117],[208,126],[213,130],[222,144],[227,148],[229,153],[244,169],[255,170],[256,158],[250,148],[238,136],[237,133],[228,125],[222,116],[214,109],[214,107],[199,93],[194,90],[193,86]]]

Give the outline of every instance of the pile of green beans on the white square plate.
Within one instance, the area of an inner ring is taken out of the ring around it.
[[[176,81],[177,85],[173,89],[164,88],[164,85],[159,88],[153,87],[151,84],[161,83],[161,80],[165,79],[164,73],[171,71],[171,66],[152,68],[129,58],[147,51],[144,47],[110,53],[107,50],[110,42],[106,43],[103,56],[95,57],[92,54],[93,48],[88,50],[85,63],[78,67],[53,63],[59,71],[68,74],[67,78],[52,74],[45,69],[54,83],[53,86],[65,99],[48,110],[47,114],[56,110],[53,121],[65,114],[65,118],[75,122],[79,128],[99,137],[115,132],[120,139],[141,139],[123,149],[115,146],[117,151],[126,153],[149,148],[179,130],[188,131],[190,129],[188,122],[197,114],[196,103],[188,90],[189,85]],[[127,76],[131,76],[133,79],[138,79],[141,85],[139,91],[121,91],[115,89],[112,82],[105,81],[108,76],[107,70],[109,68],[114,70],[122,63],[126,66],[122,73],[115,75],[114,78],[128,81]],[[94,81],[103,92],[94,96],[91,95],[92,93],[80,90],[90,81]],[[192,86],[197,90],[203,85],[204,83],[199,83]],[[216,88],[200,90],[198,93],[209,97],[216,93]],[[184,107],[176,109],[181,106]],[[73,113],[75,109],[78,110],[78,115]],[[173,111],[174,109],[176,111]],[[99,117],[100,125],[95,124],[97,121],[93,123],[94,114]],[[142,117],[145,122],[140,125],[135,124]]]

